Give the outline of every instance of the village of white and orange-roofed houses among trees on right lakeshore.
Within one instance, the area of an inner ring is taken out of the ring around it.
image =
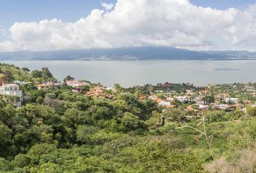
[[[246,112],[247,105],[256,107],[255,84],[218,84],[203,87],[195,87],[192,84],[182,84],[183,91],[172,90],[174,84],[158,84],[148,99],[158,102],[163,108],[182,106],[184,110],[192,112],[204,112],[208,110],[242,110]],[[179,85],[179,84],[178,84]],[[167,92],[166,92],[167,91]],[[140,99],[146,99],[141,95]]]

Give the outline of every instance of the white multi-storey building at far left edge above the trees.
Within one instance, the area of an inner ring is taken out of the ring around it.
[[[19,89],[19,85],[3,84],[2,86],[0,86],[0,94],[19,97],[20,100],[16,102],[14,106],[21,107],[23,101],[23,93],[22,90]]]

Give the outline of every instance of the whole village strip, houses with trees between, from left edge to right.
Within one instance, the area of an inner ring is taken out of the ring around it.
[[[14,81],[12,84],[4,84],[0,81],[0,94],[18,97],[14,106],[21,107],[23,102],[22,86],[30,84],[29,81]],[[62,86],[69,86],[72,92],[86,94],[89,97],[109,98],[115,96],[118,89],[103,87],[101,84],[90,84],[85,81],[63,81],[35,84],[37,89],[58,89]],[[119,84],[117,84],[119,86]],[[121,87],[121,86],[119,86]],[[84,89],[86,88],[86,89]],[[193,84],[158,84],[156,86],[134,86],[131,89],[139,89],[139,99],[153,100],[163,109],[183,107],[183,110],[200,113],[209,110],[242,110],[246,112],[247,105],[256,107],[255,84],[218,84],[203,87],[196,87]],[[123,89],[122,91],[124,91]],[[119,91],[121,92],[121,91]]]

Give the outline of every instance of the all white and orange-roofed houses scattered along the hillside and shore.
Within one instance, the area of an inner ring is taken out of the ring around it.
[[[18,101],[14,104],[16,107],[20,107],[22,105],[23,101],[23,94],[22,90],[20,89],[20,86],[24,86],[29,82],[25,81],[14,81],[13,84],[4,84],[3,81],[0,80],[0,95],[10,95],[10,96],[16,96],[18,97]],[[90,97],[111,97],[111,95],[106,94],[106,90],[112,90],[115,91],[114,88],[103,88],[101,86],[90,86],[89,83],[84,81],[65,81],[65,83],[57,83],[48,81],[46,83],[42,84],[36,84],[38,89],[57,89],[59,86],[67,85],[70,86],[72,92],[82,92],[83,87],[88,86],[90,87],[90,91],[87,92],[88,96]],[[187,84],[189,85],[189,84]],[[191,84],[190,84],[191,85]],[[165,83],[165,84],[158,84],[158,87],[171,87],[172,84]],[[192,86],[192,85],[191,85]],[[249,94],[252,94],[252,96],[255,96],[255,89],[252,87],[246,87],[247,92]],[[174,91],[172,91],[174,92]],[[243,109],[247,102],[247,100],[243,100],[244,104],[241,104],[241,100],[239,98],[232,98],[229,97],[229,94],[227,93],[221,93],[216,94],[214,97],[216,98],[214,102],[208,102],[206,103],[203,99],[206,95],[209,95],[209,90],[207,87],[200,89],[200,92],[195,93],[192,89],[186,90],[184,94],[177,94],[177,93],[168,93],[164,94],[161,90],[155,90],[155,94],[150,94],[150,96],[141,95],[140,99],[151,99],[158,103],[158,105],[165,107],[165,108],[173,108],[176,107],[174,102],[182,102],[188,104],[186,107],[186,110],[191,110],[194,112],[199,111],[206,111],[206,110],[233,110],[234,108],[241,108]],[[164,97],[158,97],[158,94],[163,94]],[[172,97],[171,97],[172,95]],[[221,102],[222,101],[222,102]],[[191,103],[189,105],[189,103]],[[196,107],[196,108],[195,108]]]

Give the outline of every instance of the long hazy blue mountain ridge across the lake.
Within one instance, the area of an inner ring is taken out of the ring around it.
[[[247,51],[192,51],[172,47],[135,47],[54,51],[1,52],[0,61],[135,61],[135,60],[249,60]]]

